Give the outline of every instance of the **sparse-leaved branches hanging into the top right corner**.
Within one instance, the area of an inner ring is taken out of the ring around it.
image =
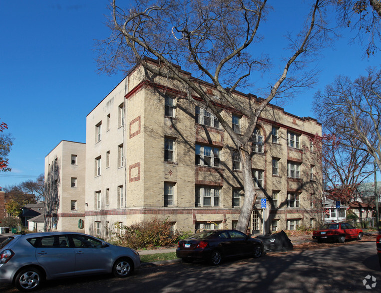
[[[380,50],[381,1],[380,0],[332,0],[337,9],[341,26],[352,27],[358,39],[365,42],[369,56]]]

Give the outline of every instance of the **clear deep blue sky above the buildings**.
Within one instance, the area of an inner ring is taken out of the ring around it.
[[[272,2],[281,8],[263,26],[262,48],[277,56],[284,47],[283,28],[298,27],[303,5]],[[94,40],[109,34],[107,5],[108,0],[0,0],[0,120],[15,139],[9,155],[12,171],[0,173],[0,186],[43,173],[45,156],[61,140],[84,143],[86,115],[123,78],[122,73],[110,77],[96,72]],[[380,65],[380,58],[363,59],[360,44],[348,43],[353,32],[341,33],[335,48],[323,49],[324,57],[316,63],[322,70],[319,83],[282,105],[287,112],[314,117],[311,103],[317,89],[336,75],[356,78],[367,67]],[[278,69],[276,63],[273,72]],[[253,81],[268,80],[257,76]]]

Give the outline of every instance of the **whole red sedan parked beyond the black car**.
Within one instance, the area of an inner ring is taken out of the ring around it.
[[[363,238],[363,230],[357,229],[348,223],[331,223],[323,225],[322,229],[313,232],[313,239],[318,242],[338,241],[344,243],[346,240]]]

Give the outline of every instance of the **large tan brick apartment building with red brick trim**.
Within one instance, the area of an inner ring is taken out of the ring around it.
[[[245,131],[245,117],[228,109],[222,115],[235,132]],[[321,131],[315,119],[265,109],[250,142],[253,233],[314,225],[322,186],[310,138]],[[86,117],[86,233],[107,238],[115,223],[152,218],[182,231],[235,228],[245,196],[241,168],[230,137],[197,96],[189,101],[175,82],[137,67]]]

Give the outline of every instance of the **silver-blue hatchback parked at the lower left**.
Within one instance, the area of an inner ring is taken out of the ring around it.
[[[25,292],[57,278],[107,273],[123,278],[138,267],[136,250],[82,233],[14,235],[0,244],[0,282]]]

